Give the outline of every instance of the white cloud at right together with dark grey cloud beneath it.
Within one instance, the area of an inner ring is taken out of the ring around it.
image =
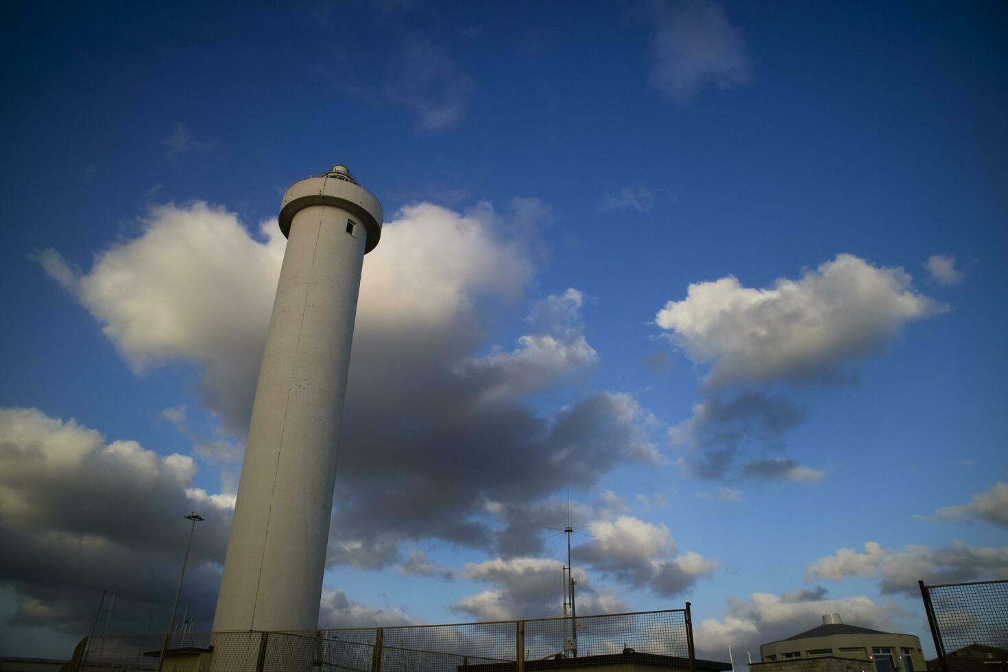
[[[703,479],[818,481],[825,469],[781,454],[784,433],[805,413],[788,388],[843,380],[906,323],[946,309],[903,269],[850,254],[766,288],[734,276],[690,284],[655,315],[703,376],[704,398],[669,430],[684,449],[679,463]]]

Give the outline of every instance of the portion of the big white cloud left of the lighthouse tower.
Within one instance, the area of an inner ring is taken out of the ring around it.
[[[142,225],[88,273],[53,251],[43,268],[136,373],[173,360],[200,364],[203,403],[244,434],[286,241],[275,222],[260,225],[260,243],[233,213],[199,201],[154,207]]]

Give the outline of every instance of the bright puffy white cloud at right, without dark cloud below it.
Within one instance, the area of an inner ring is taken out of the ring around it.
[[[689,285],[655,316],[692,362],[711,365],[712,388],[831,376],[877,352],[909,320],[946,307],[913,291],[900,268],[853,255],[773,287],[744,287],[734,276]]]

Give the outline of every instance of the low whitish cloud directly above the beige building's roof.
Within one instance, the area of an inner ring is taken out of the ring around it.
[[[718,659],[729,646],[736,651],[758,651],[765,642],[814,628],[823,614],[840,614],[844,623],[892,632],[893,619],[899,614],[892,602],[879,604],[864,595],[827,599],[826,592],[818,588],[781,595],[753,592],[748,599],[730,597],[721,619],[704,619],[697,627],[698,654]]]

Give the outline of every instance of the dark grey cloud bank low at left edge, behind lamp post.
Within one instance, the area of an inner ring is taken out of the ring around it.
[[[166,628],[190,531],[183,516],[199,509],[207,520],[182,600],[209,627],[231,511],[192,489],[194,472],[186,456],[107,443],[34,409],[0,409],[0,582],[17,594],[11,623],[83,635],[102,590],[116,587],[119,628],[142,630],[149,616]]]

